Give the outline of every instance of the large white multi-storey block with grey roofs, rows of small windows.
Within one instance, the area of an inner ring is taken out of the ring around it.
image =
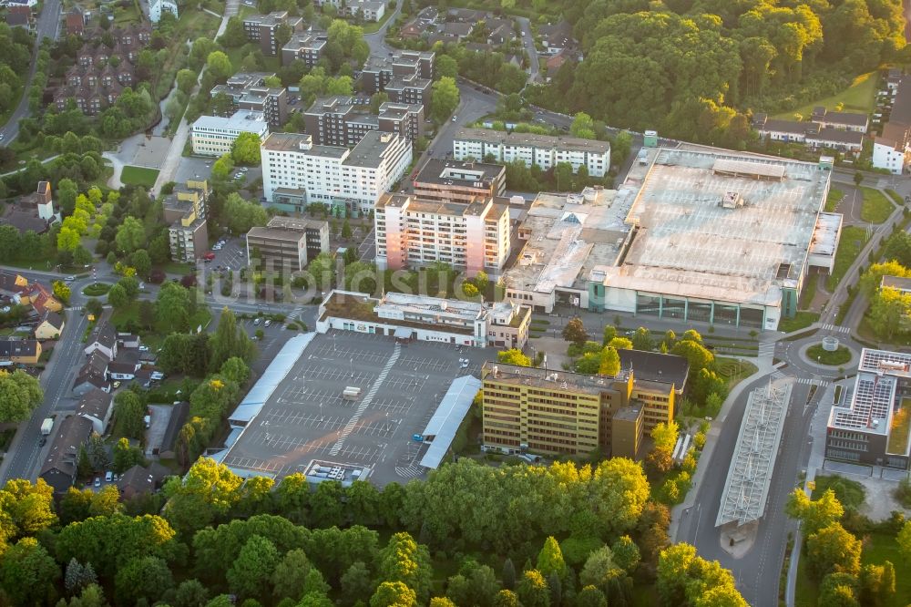
[[[367,132],[353,149],[314,145],[311,135],[272,133],[262,142],[262,187],[302,190],[306,201],[344,201],[367,212],[411,164],[411,141],[394,133]]]

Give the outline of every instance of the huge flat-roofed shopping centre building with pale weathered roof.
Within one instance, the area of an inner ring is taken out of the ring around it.
[[[616,191],[532,204],[507,296],[545,312],[565,303],[775,329],[808,270],[831,272],[831,170],[826,157],[643,149]]]

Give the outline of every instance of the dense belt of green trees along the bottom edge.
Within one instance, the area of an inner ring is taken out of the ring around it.
[[[55,503],[0,489],[0,603],[102,607],[746,607],[730,571],[669,547],[639,464],[493,468],[315,489],[211,459],[160,494],[114,485]]]

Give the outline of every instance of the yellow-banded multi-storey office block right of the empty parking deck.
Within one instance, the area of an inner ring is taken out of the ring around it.
[[[585,376],[486,363],[481,380],[486,448],[573,456],[600,449],[610,457],[639,455],[643,407],[631,400],[632,369],[621,369],[617,376]],[[621,449],[615,452],[617,445]]]

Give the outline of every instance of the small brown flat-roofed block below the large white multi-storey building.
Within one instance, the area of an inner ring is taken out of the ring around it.
[[[262,268],[298,272],[321,252],[329,251],[329,222],[273,217],[264,227],[247,232],[247,260]]]

